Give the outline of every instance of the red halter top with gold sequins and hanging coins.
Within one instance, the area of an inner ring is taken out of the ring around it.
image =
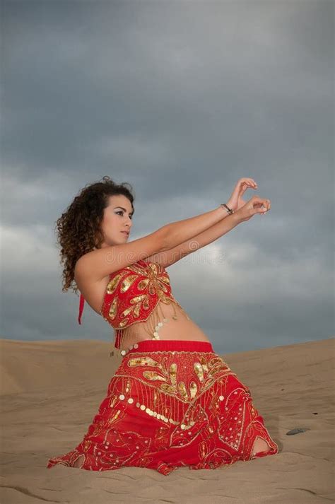
[[[81,324],[84,301],[81,294],[79,324]],[[159,339],[160,327],[163,326],[163,322],[169,321],[160,303],[172,304],[173,319],[177,320],[177,305],[189,320],[187,313],[172,295],[170,277],[161,264],[139,259],[134,264],[111,273],[100,315],[114,328],[114,346],[120,348],[125,336],[136,335],[138,322],[147,322],[143,325],[146,332],[152,339]],[[159,309],[161,316],[158,313]]]

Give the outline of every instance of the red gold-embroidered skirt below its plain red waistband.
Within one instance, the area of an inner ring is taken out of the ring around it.
[[[47,467],[80,459],[83,469],[95,471],[215,469],[251,460],[258,438],[269,444],[269,455],[278,452],[249,388],[216,353],[131,351],[81,443]]]

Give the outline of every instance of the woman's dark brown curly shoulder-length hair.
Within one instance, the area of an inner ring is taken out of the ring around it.
[[[62,292],[72,288],[77,293],[78,286],[74,279],[74,266],[79,257],[94,248],[100,248],[104,236],[100,229],[104,209],[109,197],[123,194],[131,202],[134,210],[134,189],[129,182],[117,184],[108,175],[102,177],[102,182],[86,184],[56,221],[57,241],[61,247]]]

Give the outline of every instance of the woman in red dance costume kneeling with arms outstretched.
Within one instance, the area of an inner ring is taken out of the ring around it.
[[[112,325],[122,363],[81,443],[47,467],[131,466],[167,475],[181,466],[215,469],[276,454],[249,388],[175,300],[166,271],[237,224],[264,215],[269,199],[243,201],[257,184],[242,178],[227,204],[129,241],[129,185],[103,177],[82,189],[57,221],[62,290],[75,281],[74,291],[81,291],[79,323],[86,300]]]

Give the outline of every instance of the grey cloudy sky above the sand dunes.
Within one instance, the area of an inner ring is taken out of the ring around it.
[[[334,335],[334,2],[1,1],[1,337],[100,339],[55,222],[130,182],[132,239],[228,201],[271,211],[169,266],[219,353]]]

